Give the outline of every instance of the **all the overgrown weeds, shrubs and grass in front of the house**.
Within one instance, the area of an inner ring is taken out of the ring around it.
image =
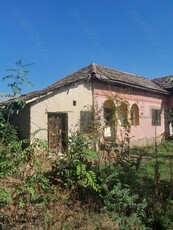
[[[116,158],[100,162],[98,133],[77,132],[52,157],[45,141],[17,138],[11,116],[24,106],[15,98],[28,72],[15,73],[14,100],[0,109],[0,229],[173,229],[171,140],[120,154],[110,146]]]

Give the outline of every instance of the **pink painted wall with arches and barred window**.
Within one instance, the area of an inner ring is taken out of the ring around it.
[[[140,140],[141,143],[144,142],[144,144],[147,144],[147,142],[150,142],[155,137],[155,133],[157,136],[161,136],[165,132],[166,121],[164,110],[167,108],[167,96],[143,90],[125,90],[119,87],[107,87],[106,84],[103,85],[100,83],[94,83],[93,92],[94,100],[99,108],[103,108],[103,104],[108,100],[109,96],[115,97],[117,93],[128,102],[129,111],[134,103],[138,105],[139,125],[131,126],[130,137],[132,143]],[[162,109],[160,126],[152,126],[152,109]]]

